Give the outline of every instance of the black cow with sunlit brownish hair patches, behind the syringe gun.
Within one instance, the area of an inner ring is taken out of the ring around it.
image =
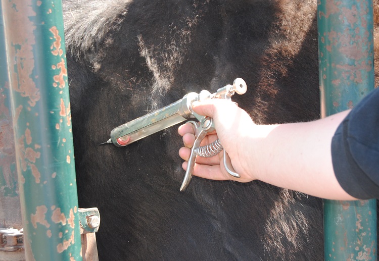
[[[194,177],[177,128],[98,146],[125,122],[236,77],[256,123],[319,118],[316,1],[63,1],[81,207],[101,260],[321,260],[320,199]],[[238,96],[238,97],[236,97]]]

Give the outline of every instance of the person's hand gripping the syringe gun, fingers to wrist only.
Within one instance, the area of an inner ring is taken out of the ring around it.
[[[214,180],[236,180],[249,182],[255,179],[250,170],[249,159],[244,153],[251,146],[247,144],[252,129],[256,126],[250,116],[234,102],[224,99],[210,99],[202,102],[194,102],[193,110],[203,116],[210,116],[215,123],[215,131],[209,133],[202,141],[201,146],[215,141],[217,138],[226,152],[228,152],[231,164],[240,178],[232,177],[225,170],[223,153],[218,153],[211,158],[198,156],[194,167],[194,175]],[[185,161],[183,169],[187,169],[187,161],[191,153],[191,147],[195,142],[195,130],[192,124],[184,124],[178,128],[178,133],[183,137],[184,147],[179,149],[180,157]]]

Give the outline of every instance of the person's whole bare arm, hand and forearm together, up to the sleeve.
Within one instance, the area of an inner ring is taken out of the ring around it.
[[[193,110],[215,122],[216,131],[206,136],[201,145],[218,137],[241,177],[234,178],[226,172],[223,153],[212,158],[198,156],[194,175],[239,182],[261,180],[317,197],[356,199],[338,183],[330,151],[331,138],[349,111],[306,123],[257,125],[244,110],[223,99],[194,102]],[[186,170],[195,141],[193,125],[181,125],[178,133],[183,137],[184,147],[179,155]]]

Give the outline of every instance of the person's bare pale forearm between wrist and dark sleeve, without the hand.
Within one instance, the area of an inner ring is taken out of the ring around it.
[[[339,185],[330,152],[331,138],[347,114],[307,123],[257,126],[259,133],[244,142],[246,154],[251,155],[246,171],[254,170],[257,179],[279,187],[323,198],[354,199]]]

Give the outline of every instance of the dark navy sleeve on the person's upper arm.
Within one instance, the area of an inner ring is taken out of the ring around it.
[[[336,178],[348,194],[379,198],[379,88],[340,124],[331,140],[331,160]]]

